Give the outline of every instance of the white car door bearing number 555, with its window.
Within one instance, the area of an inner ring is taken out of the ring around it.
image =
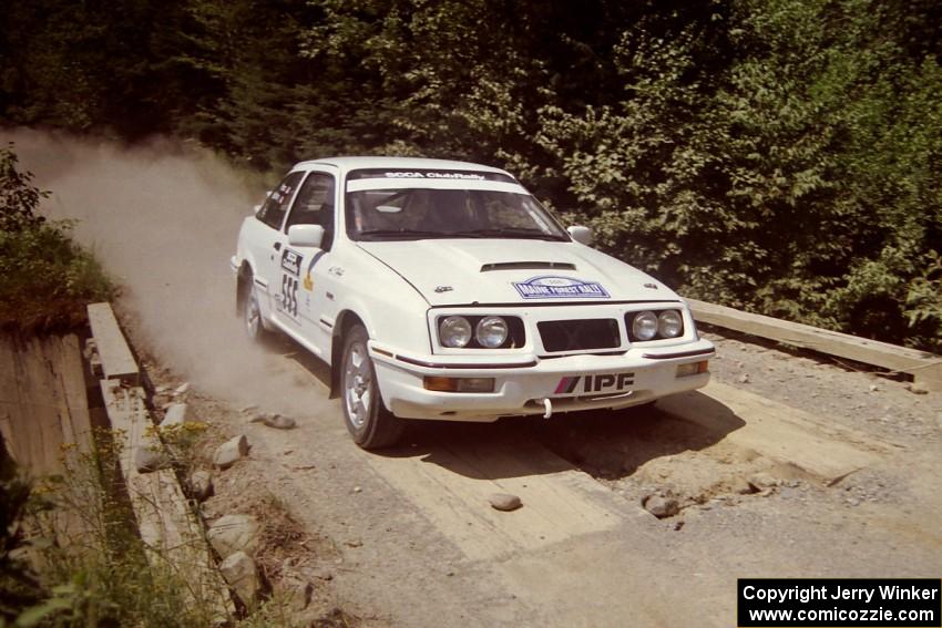
[[[285,292],[284,317],[290,317],[300,333],[324,354],[332,333],[332,316],[326,297],[329,267],[334,249],[336,214],[336,176],[330,172],[311,171],[298,191],[285,220],[285,241],[294,225],[324,227],[320,247],[286,246],[281,262],[281,285]]]

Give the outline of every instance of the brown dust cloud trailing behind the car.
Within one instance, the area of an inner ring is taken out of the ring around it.
[[[42,213],[78,220],[75,238],[122,286],[120,311],[163,366],[197,389],[266,411],[310,414],[324,395],[285,360],[252,346],[235,316],[229,257],[260,202],[257,176],[165,140],[133,148],[34,131],[0,131],[49,189]]]

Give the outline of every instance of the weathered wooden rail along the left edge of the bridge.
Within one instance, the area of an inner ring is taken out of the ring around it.
[[[168,567],[186,583],[186,595],[208,600],[219,621],[235,614],[228,587],[216,567],[199,519],[171,469],[140,473],[134,452],[163,451],[144,403],[141,372],[110,303],[89,306],[89,320],[101,360],[105,410],[121,436],[120,464],[141,539],[152,565]]]

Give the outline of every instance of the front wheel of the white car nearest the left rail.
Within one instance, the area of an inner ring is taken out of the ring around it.
[[[340,403],[354,442],[365,450],[376,450],[396,444],[406,425],[382,403],[367,349],[368,340],[367,330],[360,325],[350,328],[344,339]]]

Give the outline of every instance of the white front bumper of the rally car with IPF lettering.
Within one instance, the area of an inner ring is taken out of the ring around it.
[[[515,356],[489,363],[462,363],[442,356],[399,354],[370,342],[380,393],[402,419],[495,421],[500,416],[618,409],[706,385],[709,372],[678,377],[680,364],[715,356],[708,340],[665,347],[632,348],[618,356],[565,356],[539,359]],[[426,377],[493,378],[494,392],[426,390]]]

